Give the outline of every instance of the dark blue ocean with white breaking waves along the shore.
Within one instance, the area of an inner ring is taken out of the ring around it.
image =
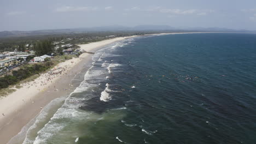
[[[256,34],[130,38],[92,61],[24,144],[256,142]]]

